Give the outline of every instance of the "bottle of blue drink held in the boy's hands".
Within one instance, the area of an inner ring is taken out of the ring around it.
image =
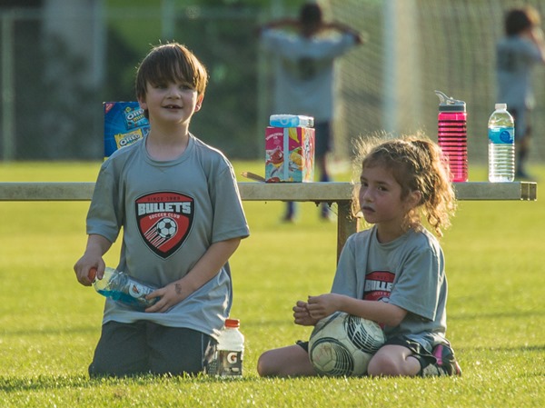
[[[136,310],[144,311],[145,308],[152,306],[159,300],[158,297],[147,300],[145,296],[154,292],[157,288],[149,284],[144,284],[137,279],[107,267],[104,270],[102,279],[94,278],[94,290],[105,297],[110,297],[114,301],[128,304]]]

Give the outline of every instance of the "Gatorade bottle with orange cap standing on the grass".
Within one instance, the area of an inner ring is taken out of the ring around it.
[[[239,327],[240,320],[225,320],[213,362],[209,364],[207,373],[220,377],[243,376],[244,336]]]

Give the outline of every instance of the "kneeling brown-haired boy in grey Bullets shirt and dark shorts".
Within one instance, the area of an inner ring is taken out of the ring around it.
[[[80,284],[104,275],[103,255],[123,227],[117,269],[160,289],[144,312],[107,299],[91,376],[200,373],[232,303],[229,257],[249,235],[233,167],[189,133],[207,73],[183,45],[159,45],[136,75],[150,121],[139,143],[116,151],[98,175],[87,214]],[[162,236],[161,220],[175,224]]]

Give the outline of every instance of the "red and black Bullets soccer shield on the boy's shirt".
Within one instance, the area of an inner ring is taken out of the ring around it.
[[[152,193],[136,200],[140,234],[162,258],[168,258],[183,244],[193,225],[193,212],[193,198],[179,193]]]

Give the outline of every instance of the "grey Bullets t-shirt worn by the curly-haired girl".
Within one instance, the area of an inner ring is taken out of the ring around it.
[[[444,343],[447,278],[441,245],[429,231],[409,230],[388,244],[379,243],[376,227],[352,234],[344,248],[332,293],[395,304],[409,313],[387,337],[431,334]]]

